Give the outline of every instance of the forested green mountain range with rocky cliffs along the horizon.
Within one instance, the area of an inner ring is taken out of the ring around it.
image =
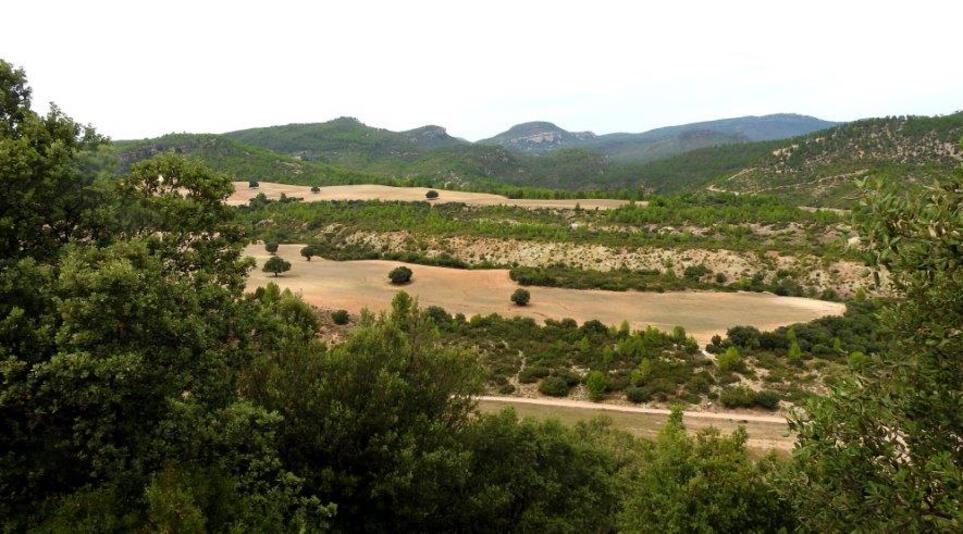
[[[845,206],[869,174],[921,183],[952,172],[963,112],[832,123],[795,114],[740,117],[642,133],[569,132],[530,122],[475,143],[429,125],[395,132],[342,117],[226,134],[113,144],[120,170],[165,151],[237,179],[296,184],[415,183],[525,194],[526,187],[765,193]]]

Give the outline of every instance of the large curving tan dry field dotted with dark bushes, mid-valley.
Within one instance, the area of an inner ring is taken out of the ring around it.
[[[276,282],[300,293],[316,306],[343,308],[358,313],[362,308],[381,311],[389,307],[399,290],[418,298],[421,306],[441,306],[451,313],[497,313],[521,315],[536,320],[572,318],[578,322],[598,319],[618,325],[623,320],[633,328],[652,325],[671,330],[684,326],[700,343],[714,334],[724,334],[736,325],[753,325],[762,330],[806,322],[826,315],[840,315],[846,307],[835,302],[777,297],[765,293],[721,293],[685,291],[643,293],[550,287],[529,287],[531,304],[517,307],[509,296],[519,287],[505,269],[463,270],[408,264],[414,271],[411,283],[393,286],[388,272],[396,261],[308,262],[299,255],[302,245],[281,245],[278,254],[292,264],[291,271],[275,277],[261,272],[269,254],[261,245],[246,249],[258,262],[251,273],[249,288]]]

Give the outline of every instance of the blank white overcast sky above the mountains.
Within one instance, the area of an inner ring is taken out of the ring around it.
[[[963,1],[5,5],[34,106],[114,139],[340,116],[470,140],[547,120],[640,132],[742,115],[963,109]]]

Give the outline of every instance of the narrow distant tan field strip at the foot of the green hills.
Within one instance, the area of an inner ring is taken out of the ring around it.
[[[424,201],[425,193],[429,190],[425,187],[392,187],[388,185],[332,185],[322,187],[318,193],[312,193],[311,188],[303,185],[286,185],[272,182],[260,182],[257,188],[248,187],[247,182],[234,182],[234,194],[227,199],[227,203],[237,206],[247,204],[247,202],[264,193],[271,199],[281,196],[281,193],[289,197],[303,198],[305,202],[318,202],[322,200],[401,200],[401,201]],[[574,208],[576,204],[584,209],[608,209],[617,208],[627,204],[625,200],[612,199],[532,199],[532,198],[508,198],[501,195],[489,193],[469,193],[467,191],[448,191],[436,189],[439,196],[432,202],[464,202],[473,206],[520,206],[524,208]]]

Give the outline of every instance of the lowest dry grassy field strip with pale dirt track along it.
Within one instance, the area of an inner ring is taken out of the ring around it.
[[[665,425],[666,410],[612,406],[563,399],[521,399],[516,397],[483,397],[478,408],[484,413],[499,412],[511,406],[519,417],[536,420],[555,419],[573,425],[600,415],[607,417],[613,428],[635,436],[652,439]],[[795,437],[789,433],[786,420],[778,416],[741,415],[732,413],[685,412],[683,422],[690,432],[715,427],[728,434],[739,426],[746,429],[746,445],[757,452],[790,451]]]

